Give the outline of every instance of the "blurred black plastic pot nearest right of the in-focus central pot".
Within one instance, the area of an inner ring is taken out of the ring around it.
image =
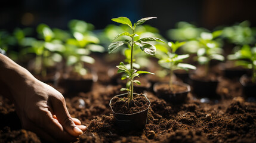
[[[156,93],[156,95],[158,97],[163,98],[165,101],[171,102],[173,104],[180,104],[180,103],[186,102],[187,101],[187,94],[189,94],[189,92],[190,92],[190,86],[187,85],[186,83],[182,83],[182,82],[173,82],[172,84],[186,87],[187,90],[186,91],[175,92],[175,94],[174,93],[169,93],[169,91],[159,91],[158,90],[158,86],[160,86],[160,85],[169,85],[168,82],[155,83],[155,85],[153,87],[153,90],[154,90],[154,92]]]

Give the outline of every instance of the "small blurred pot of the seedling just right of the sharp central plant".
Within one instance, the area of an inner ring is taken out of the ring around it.
[[[172,82],[174,88],[181,88],[181,90],[171,92],[169,89],[169,82],[158,82],[153,86],[153,91],[160,98],[173,104],[180,104],[187,101],[187,94],[190,92],[190,86],[182,82]],[[161,89],[161,86],[166,86],[165,89]]]

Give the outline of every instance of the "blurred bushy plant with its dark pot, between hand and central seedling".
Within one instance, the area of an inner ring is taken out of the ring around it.
[[[102,52],[104,48],[98,45],[100,41],[92,33],[91,24],[72,20],[69,25],[73,38],[67,39],[66,50],[62,53],[66,67],[60,85],[67,92],[88,92],[91,91],[92,83],[97,81],[97,74],[92,71],[95,60],[90,54]]]

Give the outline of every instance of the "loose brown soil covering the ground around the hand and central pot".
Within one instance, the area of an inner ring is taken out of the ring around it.
[[[96,61],[104,67],[103,60]],[[62,92],[70,115],[88,127],[76,142],[256,142],[256,102],[246,99],[238,79],[221,78],[221,99],[209,102],[201,102],[192,92],[187,102],[175,105],[144,92],[151,102],[147,124],[130,132],[115,127],[109,107],[111,98],[125,93],[121,88],[106,81],[93,83],[89,92]],[[44,142],[21,128],[14,105],[2,96],[0,120],[0,142]]]

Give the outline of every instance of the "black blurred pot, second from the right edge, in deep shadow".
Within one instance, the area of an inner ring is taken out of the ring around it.
[[[197,79],[193,76],[193,74],[189,75],[191,85],[193,87],[193,92],[199,97],[199,98],[212,98],[212,99],[218,99],[220,96],[217,95],[217,86],[218,86],[218,80],[202,80]]]

